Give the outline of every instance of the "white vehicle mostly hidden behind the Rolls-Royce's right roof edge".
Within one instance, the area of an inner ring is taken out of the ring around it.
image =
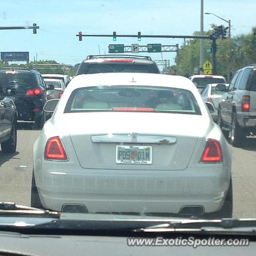
[[[194,75],[189,79],[196,85],[199,92],[201,92],[207,84],[226,84],[226,79],[223,76],[215,75]]]

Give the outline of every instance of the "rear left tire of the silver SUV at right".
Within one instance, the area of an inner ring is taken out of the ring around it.
[[[245,138],[246,133],[241,129],[241,127],[237,123],[236,113],[233,113],[230,131],[230,144],[234,147],[243,146]]]

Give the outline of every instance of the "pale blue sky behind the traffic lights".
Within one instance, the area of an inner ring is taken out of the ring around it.
[[[204,0],[204,12],[231,20],[231,37],[249,34],[256,26],[255,0]],[[12,0],[0,1],[0,27],[33,26],[0,30],[0,51],[29,52],[30,61],[55,60],[75,65],[87,55],[108,54],[109,44],[183,44],[183,39],[83,37],[83,34],[193,35],[200,30],[201,0]],[[204,15],[204,31],[211,24],[228,26],[214,15]],[[127,53],[126,53],[127,54]],[[175,52],[139,53],[173,64]],[[22,63],[22,62],[20,62]]]

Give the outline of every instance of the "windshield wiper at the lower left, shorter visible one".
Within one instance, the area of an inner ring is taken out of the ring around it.
[[[0,202],[0,216],[19,215],[20,217],[34,216],[45,218],[60,218],[60,213],[30,206],[18,205],[11,202]]]

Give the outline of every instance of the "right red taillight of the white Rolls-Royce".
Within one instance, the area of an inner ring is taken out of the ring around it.
[[[222,162],[222,152],[218,140],[208,139],[204,152],[202,154],[201,163],[218,163]]]

